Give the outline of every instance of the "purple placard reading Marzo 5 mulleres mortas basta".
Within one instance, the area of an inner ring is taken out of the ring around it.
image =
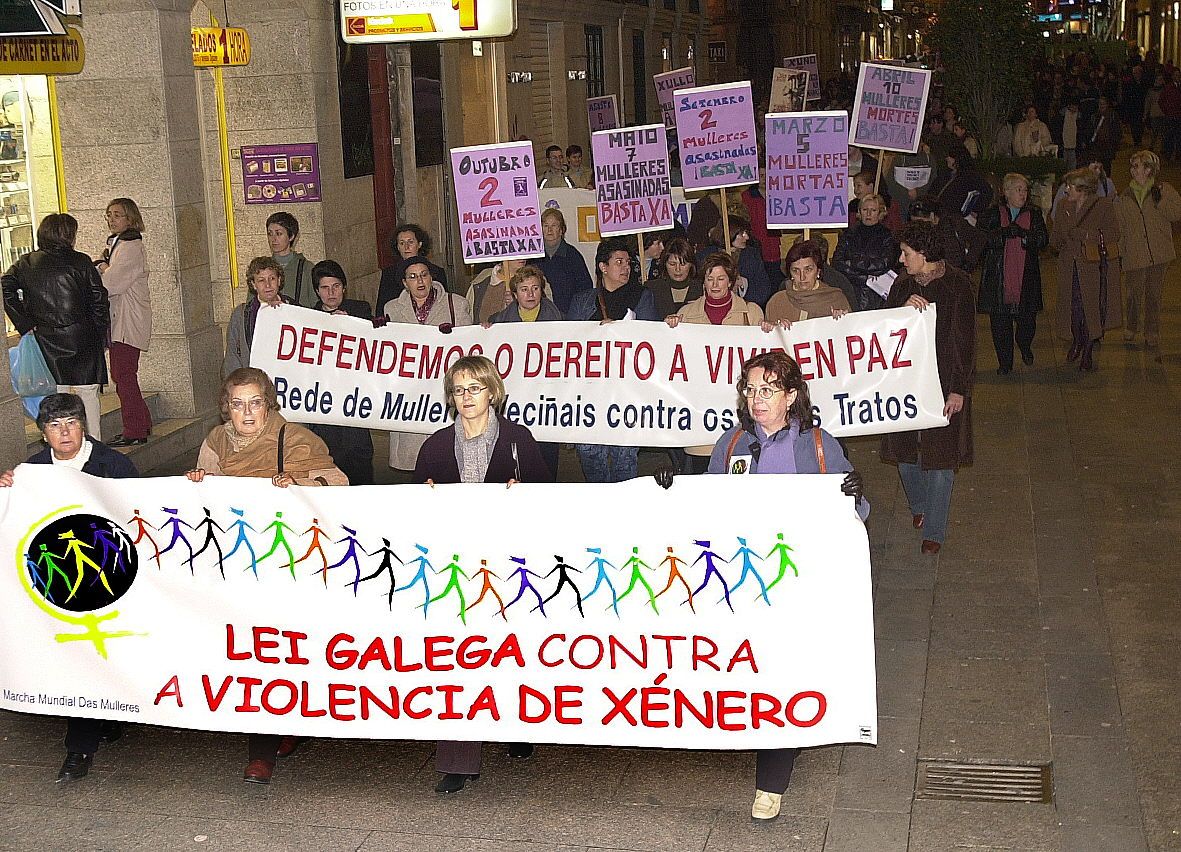
[[[848,227],[848,123],[844,110],[766,116],[768,228]]]

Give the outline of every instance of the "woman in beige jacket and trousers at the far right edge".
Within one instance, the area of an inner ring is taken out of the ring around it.
[[[1181,196],[1160,180],[1160,174],[1161,158],[1155,154],[1133,154],[1131,182],[1116,200],[1128,308],[1123,339],[1129,345],[1136,339],[1143,306],[1144,345],[1149,349],[1161,343],[1161,290],[1164,272],[1176,258],[1173,225],[1181,220]]]

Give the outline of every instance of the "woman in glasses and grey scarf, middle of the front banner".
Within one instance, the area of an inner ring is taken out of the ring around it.
[[[496,414],[504,402],[504,383],[483,356],[456,360],[443,377],[452,425],[426,438],[415,464],[415,482],[552,482],[541,449],[523,425]],[[457,793],[479,776],[482,742],[439,742],[435,768],[443,778],[436,793]],[[510,743],[509,756],[529,757],[533,746]]]

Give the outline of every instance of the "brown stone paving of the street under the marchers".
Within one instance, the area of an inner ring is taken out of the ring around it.
[[[1050,259],[1044,273],[1052,298]],[[431,743],[317,741],[259,788],[240,780],[243,737],[137,727],[58,787],[61,723],[0,713],[0,848],[1181,850],[1179,308],[1174,267],[1160,353],[1116,332],[1091,375],[1063,364],[1048,306],[1035,366],[996,376],[981,318],[977,458],[938,558],[876,441],[850,442],[874,503],[880,742],[805,752],[774,824],[750,820],[745,753],[542,747],[522,763],[485,746],[484,778],[444,799]],[[945,759],[1050,762],[1053,802],[916,799],[919,761]]]

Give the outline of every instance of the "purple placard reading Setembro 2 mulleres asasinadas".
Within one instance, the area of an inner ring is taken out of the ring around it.
[[[674,110],[685,189],[740,187],[758,181],[750,82],[678,90]]]

